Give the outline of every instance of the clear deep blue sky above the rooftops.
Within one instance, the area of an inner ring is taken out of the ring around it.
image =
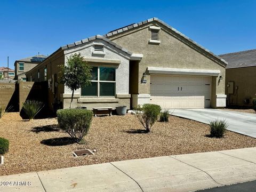
[[[0,7],[0,66],[157,17],[215,54],[256,49],[256,1],[12,1]]]

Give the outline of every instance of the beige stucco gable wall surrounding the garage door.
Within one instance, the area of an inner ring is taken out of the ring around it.
[[[159,41],[161,41],[159,45],[149,44],[151,35],[149,26],[151,25],[161,27],[158,35]],[[150,75],[146,77],[146,84],[141,83],[142,75],[146,72],[147,67],[220,70],[220,75],[223,78],[220,82],[219,77],[212,77],[211,106],[215,107],[216,94],[225,94],[225,67],[213,61],[209,53],[196,50],[195,45],[179,38],[177,34],[158,22],[151,22],[129,32],[109,37],[111,41],[129,51],[143,54],[138,71],[137,86],[139,94],[150,94]]]

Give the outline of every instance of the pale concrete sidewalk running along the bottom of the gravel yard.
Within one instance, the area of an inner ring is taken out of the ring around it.
[[[0,177],[0,191],[193,191],[256,180],[256,147]]]

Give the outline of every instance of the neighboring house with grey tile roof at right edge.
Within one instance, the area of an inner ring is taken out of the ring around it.
[[[219,55],[226,68],[227,105],[252,105],[256,98],[256,49]]]

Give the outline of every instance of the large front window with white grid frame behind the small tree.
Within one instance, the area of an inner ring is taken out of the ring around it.
[[[116,93],[116,69],[112,67],[93,67],[91,85],[82,87],[82,96],[109,97]]]

